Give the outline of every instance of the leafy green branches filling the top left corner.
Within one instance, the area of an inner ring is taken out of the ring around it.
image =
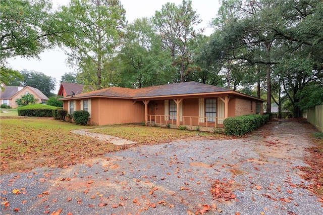
[[[54,36],[63,33],[50,14],[51,1],[3,0],[0,13],[0,61],[11,57],[38,57],[53,47]]]

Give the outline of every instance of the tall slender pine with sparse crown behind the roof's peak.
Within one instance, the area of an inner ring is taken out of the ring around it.
[[[183,0],[179,6],[167,3],[153,17],[153,23],[163,41],[163,48],[170,52],[173,66],[179,72],[180,82],[184,82],[185,76],[191,71],[189,67],[192,64],[192,53],[189,43],[202,33],[202,29],[194,29],[201,21],[190,0]]]

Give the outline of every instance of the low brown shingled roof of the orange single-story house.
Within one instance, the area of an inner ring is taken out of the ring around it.
[[[117,97],[117,98],[131,98],[131,99],[142,99],[149,97],[166,97],[174,95],[187,95],[187,94],[203,94],[203,93],[217,93],[227,92],[234,93],[240,96],[247,96],[242,93],[235,92],[233,90],[217,87],[213,85],[198,83],[194,81],[175,83],[175,84],[164,84],[158,86],[150,86],[138,89],[123,88],[123,87],[110,87],[100,90],[95,90],[87,93],[74,95],[73,99],[77,98],[89,98],[89,97]],[[71,97],[60,98],[60,100],[68,100]],[[255,98],[255,97],[252,97]],[[255,98],[259,99],[259,98]],[[259,99],[262,100],[262,99]]]

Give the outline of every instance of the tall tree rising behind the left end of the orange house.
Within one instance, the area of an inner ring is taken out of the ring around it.
[[[67,54],[83,76],[85,85],[96,89],[109,87],[102,82],[102,72],[118,47],[125,27],[125,10],[119,0],[72,0],[62,7],[62,25],[71,33],[61,37],[61,44],[71,49]]]

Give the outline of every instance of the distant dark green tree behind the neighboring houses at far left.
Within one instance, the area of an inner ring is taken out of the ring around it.
[[[30,86],[39,89],[47,97],[51,97],[50,91],[55,90],[56,79],[47,76],[41,72],[36,71],[21,71],[24,81],[21,82],[22,86]]]

